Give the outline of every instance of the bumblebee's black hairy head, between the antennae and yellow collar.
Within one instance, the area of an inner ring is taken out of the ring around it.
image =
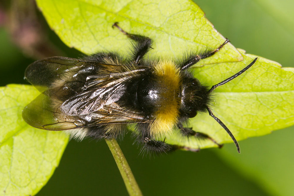
[[[211,101],[209,87],[200,83],[197,78],[184,78],[180,92],[181,114],[193,118],[198,112],[207,111]]]

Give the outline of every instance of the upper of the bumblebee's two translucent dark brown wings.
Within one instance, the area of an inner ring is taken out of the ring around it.
[[[120,63],[120,62],[117,62]],[[103,82],[110,78],[134,76],[145,71],[145,66],[106,64],[83,61],[76,58],[51,57],[36,61],[25,71],[25,78],[40,92],[58,86],[95,85],[95,81]]]

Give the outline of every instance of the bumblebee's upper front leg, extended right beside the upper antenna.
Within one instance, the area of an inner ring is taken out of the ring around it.
[[[230,41],[228,39],[226,39],[223,44],[221,44],[218,48],[216,48],[214,50],[206,50],[206,51],[201,52],[200,54],[191,53],[188,56],[184,56],[182,58],[183,60],[181,60],[181,62],[180,62],[180,67],[182,68],[182,70],[185,70],[185,69],[191,67],[192,65],[195,65],[201,59],[212,56],[214,53],[218,52],[220,50],[220,48],[222,48],[225,44],[227,44],[229,42]]]

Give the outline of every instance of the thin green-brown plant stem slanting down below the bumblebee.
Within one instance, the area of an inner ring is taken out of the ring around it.
[[[116,162],[116,165],[119,169],[119,172],[121,172],[121,177],[123,178],[123,181],[126,185],[128,194],[133,195],[142,195],[142,192],[136,182],[136,179],[131,171],[130,166],[128,165],[128,162],[123,155],[123,152],[121,151],[121,148],[119,147],[118,143],[115,139],[105,139],[113,158]]]

